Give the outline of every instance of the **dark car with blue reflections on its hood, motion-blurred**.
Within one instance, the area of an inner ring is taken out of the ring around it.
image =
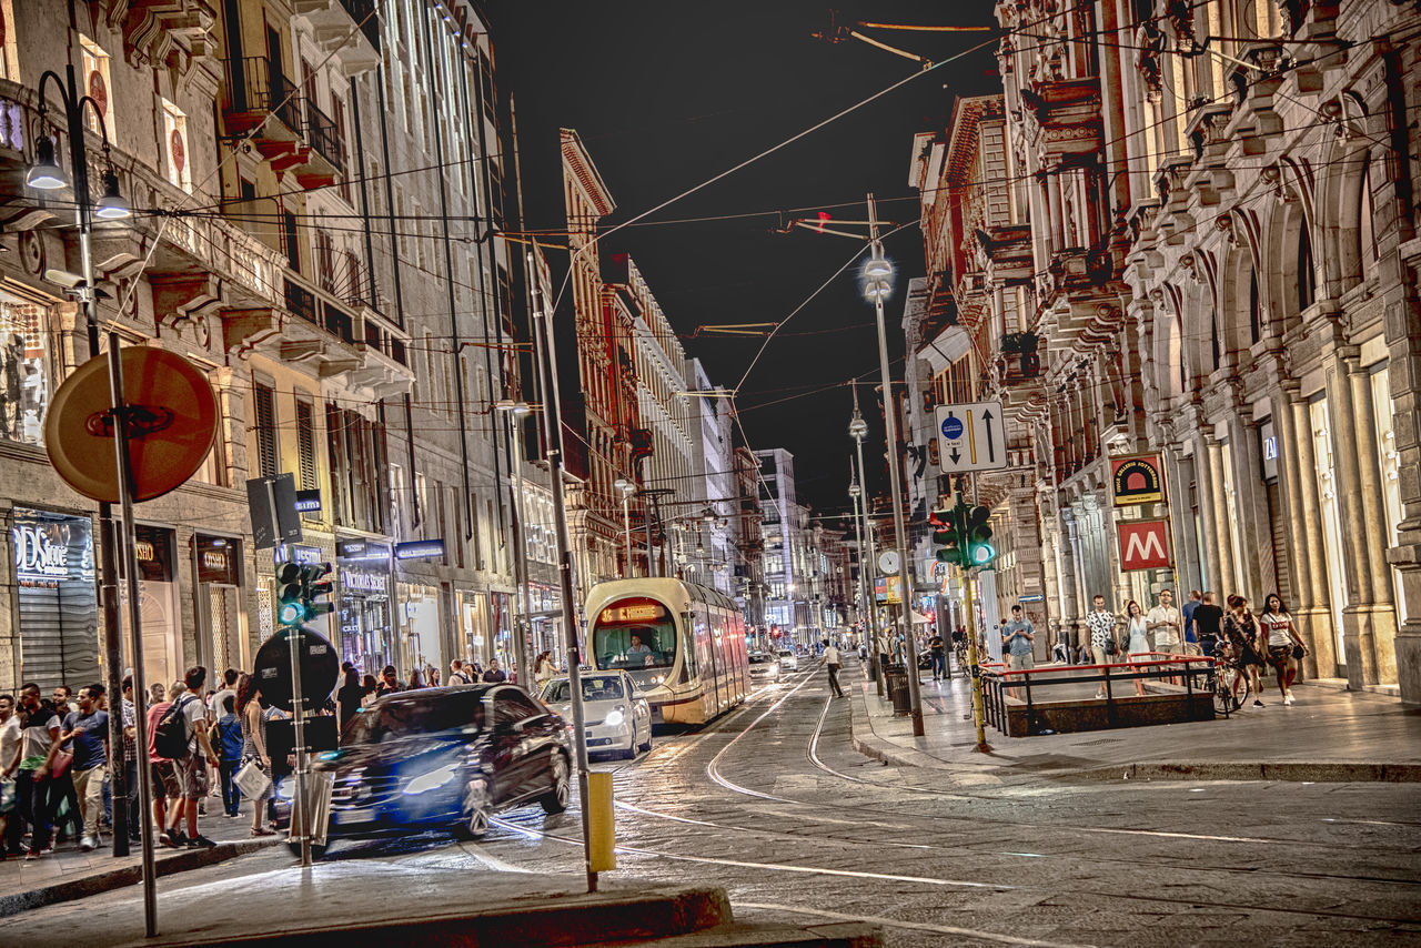
[[[489,817],[527,803],[567,809],[567,722],[516,685],[387,695],[350,719],[334,777],[328,839],[450,829],[483,836]]]

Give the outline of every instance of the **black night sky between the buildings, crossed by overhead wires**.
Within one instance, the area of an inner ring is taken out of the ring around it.
[[[836,4],[837,21],[990,26],[990,4],[888,1]],[[500,94],[517,107],[526,223],[561,232],[558,128],[576,128],[601,171],[617,223],[712,178],[867,98],[918,64],[858,40],[828,43],[820,3],[553,3],[493,0]],[[779,210],[864,220],[874,192],[880,217],[917,222],[908,186],[912,135],[942,129],[956,95],[1000,88],[990,33],[861,33],[932,61],[988,43],[857,112],[665,208],[648,223],[601,242],[603,259],[627,252],[718,385],[735,387],[762,337],[698,335],[698,327],[783,320],[861,249],[860,242],[796,229],[773,233]],[[512,209],[512,202],[510,202]],[[686,217],[736,216],[728,220]],[[848,227],[863,232],[863,227]],[[890,358],[902,377],[902,296],[924,274],[922,236],[909,226],[885,242],[899,269],[887,308]],[[567,256],[553,256],[561,280]],[[800,500],[820,513],[847,509],[851,397],[872,429],[865,442],[870,488],[887,489],[881,416],[872,385],[878,355],[872,307],[857,289],[857,264],[826,287],[770,341],[739,389],[753,449],[786,448]],[[570,294],[558,320],[571,320]]]

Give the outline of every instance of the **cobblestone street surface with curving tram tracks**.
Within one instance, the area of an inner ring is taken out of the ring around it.
[[[701,732],[658,736],[648,756],[598,765],[615,773],[615,877],[722,884],[752,921],[870,920],[894,945],[1421,944],[1415,785],[959,787],[868,760],[848,729],[848,702],[804,672]],[[429,834],[327,858],[577,873],[580,827],[576,809],[527,807],[480,844]],[[168,887],[226,888],[288,861],[279,847],[163,880],[159,907]],[[38,912],[61,932],[65,912],[132,897]]]

